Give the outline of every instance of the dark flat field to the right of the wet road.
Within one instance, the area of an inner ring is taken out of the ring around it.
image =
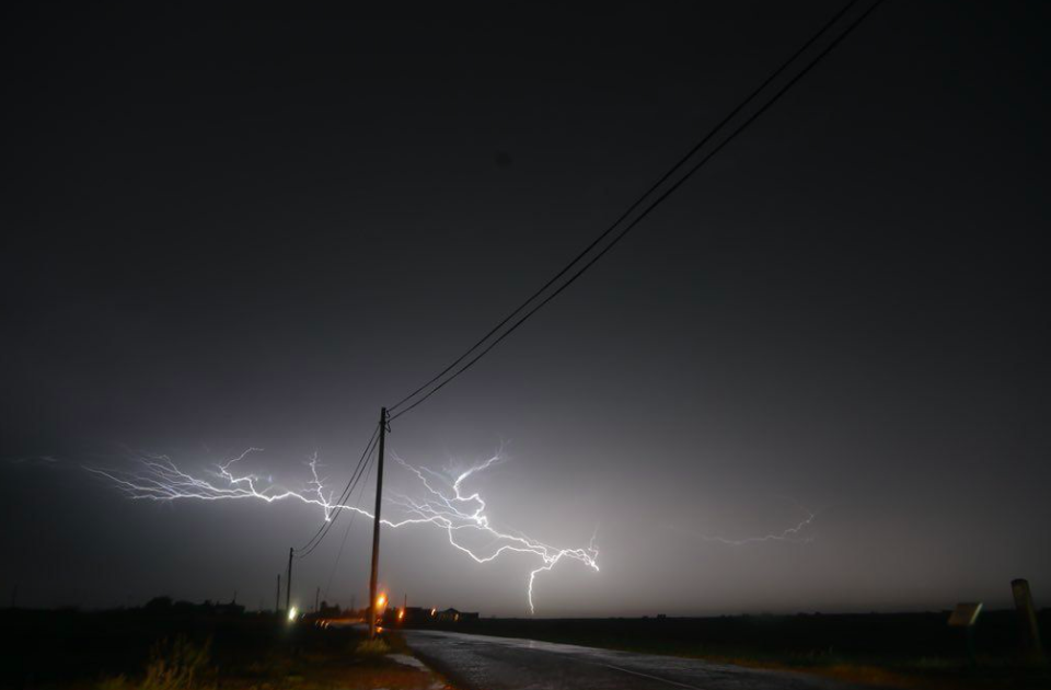
[[[817,671],[898,687],[1051,688],[1047,667],[1021,649],[1014,611],[974,629],[975,659],[949,612],[645,619],[481,619],[434,626],[465,633]],[[1039,613],[1051,634],[1051,610]]]

